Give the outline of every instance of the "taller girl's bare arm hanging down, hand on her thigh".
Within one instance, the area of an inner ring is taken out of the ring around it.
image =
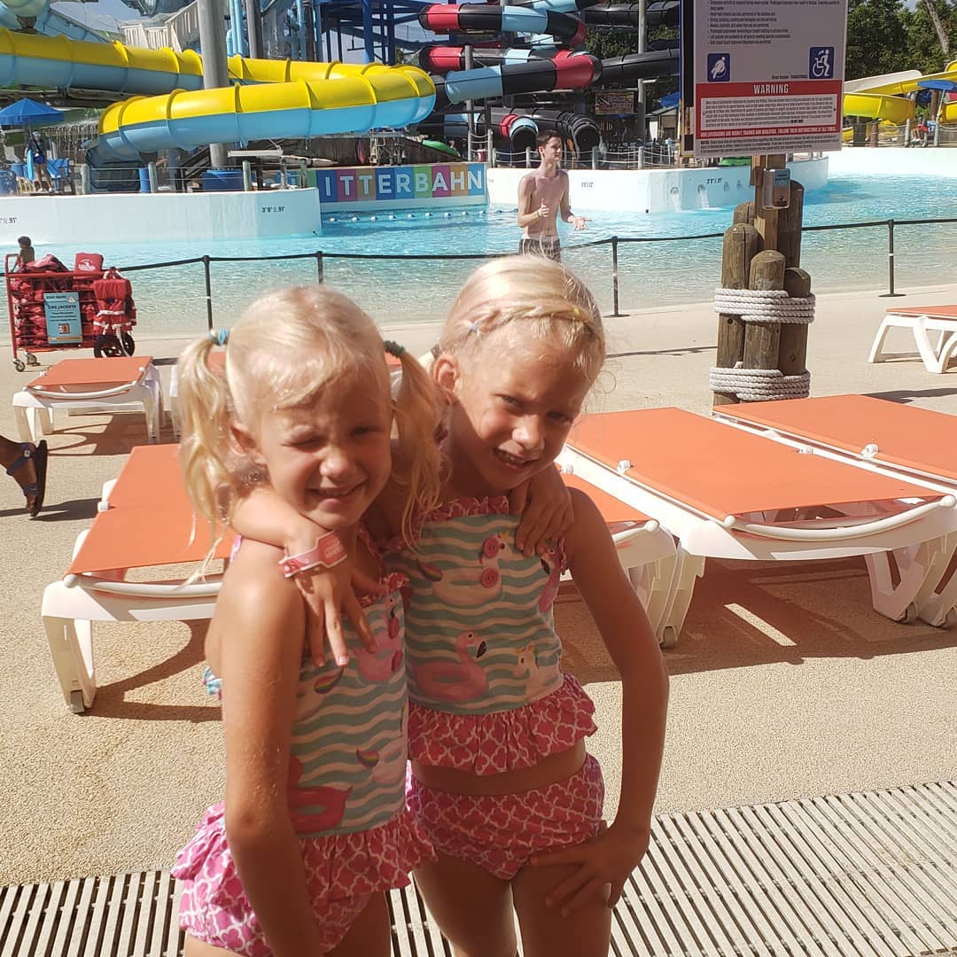
[[[628,875],[648,849],[652,809],[664,749],[668,675],[655,632],[618,561],[608,525],[585,493],[572,489],[575,521],[566,536],[568,568],[621,676],[621,794],[607,832],[581,848],[539,858],[578,861],[576,878],[551,900],[575,909],[605,883],[617,901]],[[562,856],[565,857],[562,857]]]

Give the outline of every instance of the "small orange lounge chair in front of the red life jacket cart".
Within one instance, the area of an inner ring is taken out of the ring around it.
[[[54,428],[57,410],[120,412],[142,409],[146,436],[160,438],[163,389],[152,356],[62,359],[13,395],[13,419],[21,442],[35,442]]]

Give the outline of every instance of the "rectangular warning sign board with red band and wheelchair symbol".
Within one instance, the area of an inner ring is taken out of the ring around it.
[[[696,0],[695,156],[840,149],[847,0]]]

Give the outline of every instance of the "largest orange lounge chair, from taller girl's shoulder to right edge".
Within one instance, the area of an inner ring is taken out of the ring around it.
[[[559,459],[677,537],[680,600],[666,616],[676,634],[705,558],[879,554],[957,532],[952,494],[679,409],[585,416]],[[872,590],[888,591],[877,610],[902,620],[920,584],[872,576]]]

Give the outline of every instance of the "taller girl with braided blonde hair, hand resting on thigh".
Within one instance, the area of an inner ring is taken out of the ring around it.
[[[432,374],[447,404],[441,503],[387,547],[409,578],[409,807],[438,858],[415,880],[456,955],[608,952],[610,907],[648,847],[667,707],[655,634],[608,526],[574,517],[541,558],[515,546],[506,496],[554,460],[605,359],[601,315],[561,264],[508,256],[449,310]],[[602,821],[585,748],[594,705],[561,667],[564,570],[622,680],[622,786]]]

